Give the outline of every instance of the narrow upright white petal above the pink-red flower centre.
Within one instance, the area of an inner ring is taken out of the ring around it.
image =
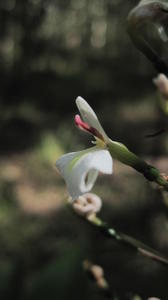
[[[77,97],[76,99],[76,105],[80,111],[80,114],[84,122],[97,129],[97,131],[102,134],[104,140],[108,141],[109,138],[105,133],[103,127],[101,126],[94,110],[90,107],[90,105],[80,96]]]

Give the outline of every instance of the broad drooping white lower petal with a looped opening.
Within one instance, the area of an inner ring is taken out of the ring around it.
[[[98,172],[112,173],[112,158],[107,150],[92,147],[63,155],[57,160],[56,167],[65,179],[72,200],[75,200],[92,189]]]

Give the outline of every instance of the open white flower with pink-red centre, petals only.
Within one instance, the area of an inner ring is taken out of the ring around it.
[[[94,135],[96,146],[65,154],[56,162],[72,200],[92,189],[99,172],[112,174],[113,166],[111,155],[106,149],[109,138],[95,112],[81,97],[76,99],[76,104],[83,120],[76,115],[75,123],[80,129]]]

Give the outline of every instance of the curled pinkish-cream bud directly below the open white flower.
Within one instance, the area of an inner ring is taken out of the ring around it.
[[[96,194],[86,193],[73,201],[72,207],[78,215],[89,218],[100,211],[102,200]]]

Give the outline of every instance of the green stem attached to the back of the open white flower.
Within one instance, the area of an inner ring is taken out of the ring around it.
[[[124,144],[110,140],[108,150],[113,158],[134,168],[143,174],[146,179],[156,182],[168,191],[168,181],[160,174],[158,169],[147,164],[143,159],[131,152]]]

